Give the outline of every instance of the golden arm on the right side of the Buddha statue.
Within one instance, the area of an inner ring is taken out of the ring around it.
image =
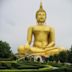
[[[49,39],[49,44],[47,47],[55,46],[55,31],[53,28],[50,29],[48,39]]]

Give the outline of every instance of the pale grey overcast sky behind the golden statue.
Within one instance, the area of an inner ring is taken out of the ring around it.
[[[72,44],[72,0],[42,0],[46,24],[55,28],[56,46]],[[27,29],[36,25],[40,0],[0,0],[0,40],[7,41],[14,53],[25,45]]]

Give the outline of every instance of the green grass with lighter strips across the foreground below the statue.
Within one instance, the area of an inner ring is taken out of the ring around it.
[[[17,61],[0,61],[1,63],[5,63],[7,66],[9,64],[13,65],[11,69],[0,69],[0,72],[72,72],[72,65],[69,66],[63,63],[24,62],[18,64]],[[58,69],[53,69],[53,67]]]

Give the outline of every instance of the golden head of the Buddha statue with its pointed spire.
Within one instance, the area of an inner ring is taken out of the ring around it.
[[[40,3],[40,8],[36,12],[36,19],[38,23],[44,23],[46,20],[46,12],[42,7],[42,2]]]

